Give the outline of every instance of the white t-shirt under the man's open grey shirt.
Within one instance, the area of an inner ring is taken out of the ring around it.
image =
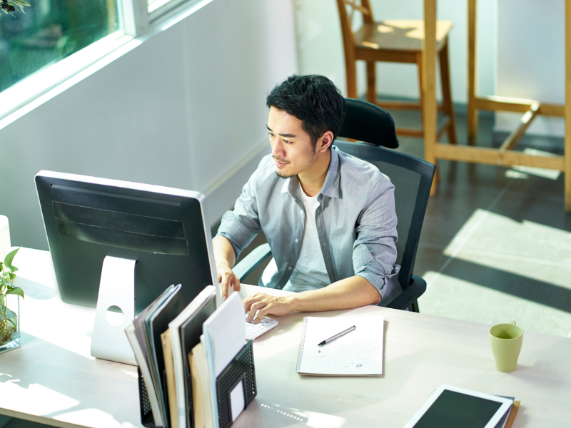
[[[317,290],[331,283],[319,245],[317,225],[315,225],[315,210],[319,206],[317,195],[310,197],[305,195],[301,186],[299,188],[305,208],[305,228],[303,229],[298,261],[295,263],[290,279],[283,287],[285,291],[294,292]],[[266,278],[269,280],[276,270],[276,262],[272,259],[262,275],[264,284],[268,282]]]

